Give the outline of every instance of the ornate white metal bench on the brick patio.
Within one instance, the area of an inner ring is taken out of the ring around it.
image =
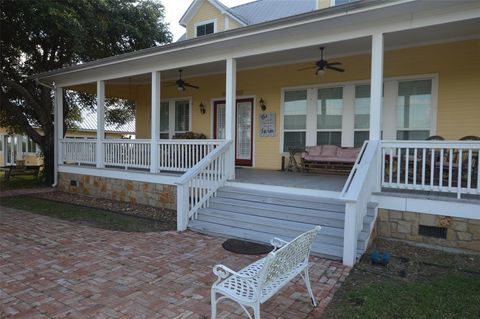
[[[224,265],[213,267],[218,279],[212,286],[212,319],[217,316],[217,303],[223,299],[236,301],[250,319],[260,318],[260,304],[272,297],[297,275],[307,285],[312,304],[317,306],[308,276],[308,258],[320,226],[301,234],[291,242],[271,240],[274,250],[265,258],[235,272]],[[217,294],[222,295],[217,299]],[[253,308],[253,317],[246,307]]]

